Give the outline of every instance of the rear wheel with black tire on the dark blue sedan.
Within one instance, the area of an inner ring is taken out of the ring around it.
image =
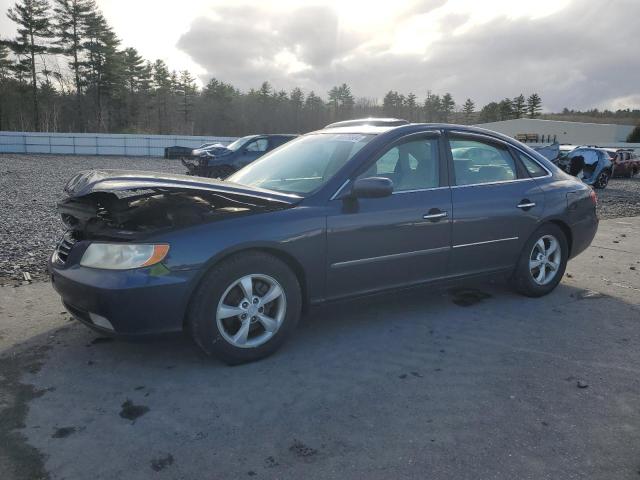
[[[547,280],[546,282],[540,282],[540,267],[531,268],[533,263],[530,263],[530,260],[533,262],[537,262],[540,257],[538,253],[542,253],[539,248],[539,241],[542,240],[545,248],[551,246],[551,240],[555,240],[557,242],[557,250],[559,253],[556,256],[555,253],[548,254],[548,260],[546,264],[544,264],[545,273],[543,280]],[[550,293],[554,288],[558,286],[560,280],[562,280],[562,276],[564,275],[564,271],[567,268],[567,259],[569,256],[569,246],[567,243],[567,238],[564,232],[560,229],[560,227],[553,225],[551,223],[547,223],[538,228],[527,240],[524,248],[522,249],[522,253],[520,254],[520,258],[518,260],[518,264],[513,273],[513,284],[515,286],[516,291],[521,293],[522,295],[526,295],[528,297],[541,297]],[[551,265],[555,264],[555,270],[552,270]],[[547,277],[553,273],[552,276]],[[538,280],[536,280],[536,277]]]

